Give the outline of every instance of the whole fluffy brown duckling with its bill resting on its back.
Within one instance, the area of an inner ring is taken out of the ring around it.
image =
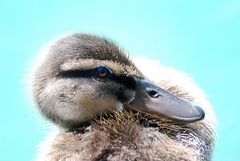
[[[50,44],[33,75],[33,97],[64,130],[42,144],[48,150],[38,160],[210,160],[215,118],[203,92],[184,74],[156,71],[158,83],[99,36]]]

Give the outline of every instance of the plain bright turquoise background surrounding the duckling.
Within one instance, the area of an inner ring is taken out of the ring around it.
[[[110,37],[132,56],[190,73],[218,117],[215,161],[240,160],[240,1],[0,1],[0,160],[34,157],[48,127],[22,79],[49,40],[71,32]]]

